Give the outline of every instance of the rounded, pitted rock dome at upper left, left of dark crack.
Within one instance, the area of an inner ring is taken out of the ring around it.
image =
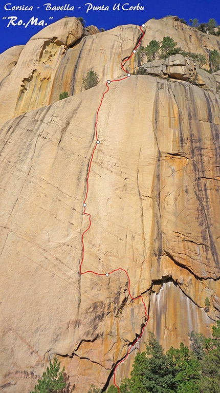
[[[35,34],[25,45],[8,78],[0,80],[0,95],[4,97],[0,122],[48,105],[57,71],[68,48],[76,45],[83,36],[98,31],[94,26],[91,30],[85,30],[76,17],[71,17],[63,18]],[[1,57],[6,62],[8,51]],[[61,91],[68,90],[65,87],[63,89]],[[59,99],[61,91],[56,92],[55,101]]]

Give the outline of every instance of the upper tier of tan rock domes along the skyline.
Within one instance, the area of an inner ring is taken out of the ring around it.
[[[185,51],[204,54],[207,68],[209,51],[219,49],[217,36],[186,26],[178,17],[150,20],[145,29],[142,45],[147,46],[151,40],[162,41],[169,35]],[[121,61],[134,49],[140,36],[139,26],[98,31],[94,26],[84,29],[77,18],[70,17],[35,34],[10,75],[2,82],[0,79],[0,96],[4,97],[0,123],[58,101],[63,91],[68,91],[69,96],[81,92],[82,79],[91,69],[101,83],[121,77]],[[0,56],[0,62],[5,55]],[[137,56],[126,64],[131,73],[137,65]]]

